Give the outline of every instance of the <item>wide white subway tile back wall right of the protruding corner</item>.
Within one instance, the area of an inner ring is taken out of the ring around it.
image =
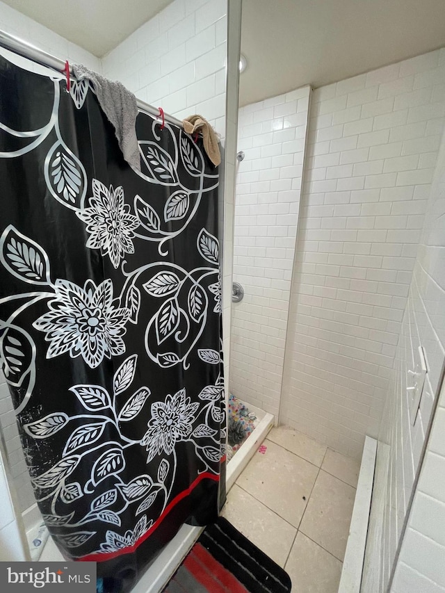
[[[444,58],[313,93],[280,420],[357,458],[393,372],[444,129]]]

